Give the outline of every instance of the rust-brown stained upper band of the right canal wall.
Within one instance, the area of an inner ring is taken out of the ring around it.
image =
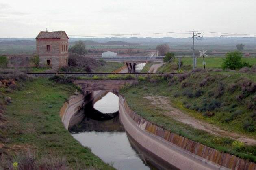
[[[124,114],[127,114],[135,122],[137,127],[139,127],[139,129],[141,129],[143,132],[150,134],[150,136],[154,136],[154,138],[161,139],[163,142],[169,143],[169,147],[177,147],[184,153],[184,155],[190,155],[190,159],[197,158],[197,161],[201,161],[203,165],[217,165],[214,169],[228,168],[232,170],[256,170],[256,164],[253,162],[249,162],[248,160],[241,159],[228,153],[217,151],[216,149],[204,146],[200,143],[194,142],[169,130],[165,130],[162,127],[158,127],[153,123],[150,123],[149,121],[143,119],[141,116],[137,115],[137,113],[135,113],[133,110],[131,110],[125,98],[119,95],[119,114],[121,114],[120,107],[124,109]],[[160,151],[158,150],[158,152]],[[164,155],[167,155],[167,153]],[[172,159],[177,159],[177,157]],[[177,165],[185,166],[186,163],[188,162],[184,159],[180,160]],[[176,164],[175,161],[174,164]],[[188,164],[189,169],[194,169],[191,168],[192,166],[194,165]]]

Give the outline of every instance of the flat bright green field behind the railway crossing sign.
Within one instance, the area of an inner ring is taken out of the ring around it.
[[[204,58],[204,62],[206,63],[205,68],[221,68],[223,59],[224,59],[224,57],[205,57]],[[181,61],[182,61],[183,65],[181,66],[181,70],[183,70],[183,71],[192,70],[192,68],[193,68],[192,60],[193,59],[191,57],[182,58]],[[256,58],[254,58],[254,57],[242,58],[242,61],[248,62],[252,66],[256,65]],[[162,67],[164,67],[164,68],[161,70]],[[197,57],[197,68],[204,68],[202,57]],[[163,66],[158,68],[158,70],[161,70],[160,72],[177,72],[178,71],[178,59],[175,58],[173,61],[168,63],[166,66],[164,64]]]

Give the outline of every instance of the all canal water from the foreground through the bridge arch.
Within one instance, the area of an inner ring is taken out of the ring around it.
[[[156,169],[145,158],[145,153],[126,134],[118,114],[115,117],[106,117],[104,120],[90,116],[94,113],[97,115],[99,112],[103,115],[118,113],[118,110],[118,96],[108,92],[94,106],[85,106],[85,119],[71,128],[72,136],[83,146],[91,148],[91,151],[104,162],[118,170]]]

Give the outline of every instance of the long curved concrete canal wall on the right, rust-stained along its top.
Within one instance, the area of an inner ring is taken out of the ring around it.
[[[119,117],[126,132],[148,153],[181,170],[256,170],[256,164],[206,147],[158,127],[131,110],[119,95]],[[152,160],[154,161],[154,160]]]

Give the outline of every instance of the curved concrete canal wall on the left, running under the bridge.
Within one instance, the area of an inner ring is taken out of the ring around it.
[[[90,94],[78,94],[69,97],[60,110],[61,121],[63,122],[66,129],[77,125],[82,121],[85,116],[84,107],[89,102],[96,102],[102,96],[106,94],[106,91],[93,91]]]

